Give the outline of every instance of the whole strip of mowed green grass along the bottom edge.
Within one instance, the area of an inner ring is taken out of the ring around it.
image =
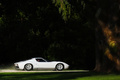
[[[120,80],[120,74],[95,72],[7,72],[0,80]]]

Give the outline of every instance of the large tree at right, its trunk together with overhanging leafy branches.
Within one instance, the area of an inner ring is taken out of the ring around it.
[[[63,14],[67,8],[64,9],[63,6],[61,5],[63,4],[65,5],[67,1],[71,2],[69,3],[69,5],[71,5],[71,9],[68,9],[67,11],[69,10],[72,11],[72,8],[76,8],[78,6],[77,4],[79,5],[82,4],[85,10],[82,11],[83,10],[82,9],[80,12],[78,12],[78,15],[80,16],[81,12],[82,14],[84,13],[83,15],[86,15],[88,17],[87,18],[88,22],[96,26],[94,27],[96,32],[96,67],[94,70],[105,72],[120,71],[120,56],[119,56],[120,1],[119,0],[80,0],[80,1],[57,0],[57,1],[56,3],[60,3],[61,1],[61,4],[59,4],[59,8],[63,10]],[[79,9],[81,9],[80,6],[77,7],[77,10]],[[91,13],[89,14],[86,13],[89,11]],[[70,13],[69,15],[70,17],[73,16],[72,13]]]

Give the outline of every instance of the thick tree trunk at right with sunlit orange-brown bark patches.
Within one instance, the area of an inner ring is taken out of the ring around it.
[[[109,3],[109,1],[108,1]],[[111,4],[112,3],[112,4]],[[120,5],[117,0],[101,7],[96,13],[96,67],[95,71],[120,71]]]

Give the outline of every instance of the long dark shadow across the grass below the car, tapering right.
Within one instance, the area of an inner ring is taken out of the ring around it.
[[[54,73],[0,73],[0,80],[71,80],[99,75],[94,72],[54,72]]]

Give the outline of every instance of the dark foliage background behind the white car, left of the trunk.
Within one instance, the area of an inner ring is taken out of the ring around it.
[[[94,68],[93,3],[68,0],[70,7],[63,0],[58,9],[62,2],[54,0],[0,1],[0,64],[43,57],[64,61],[70,69]]]

